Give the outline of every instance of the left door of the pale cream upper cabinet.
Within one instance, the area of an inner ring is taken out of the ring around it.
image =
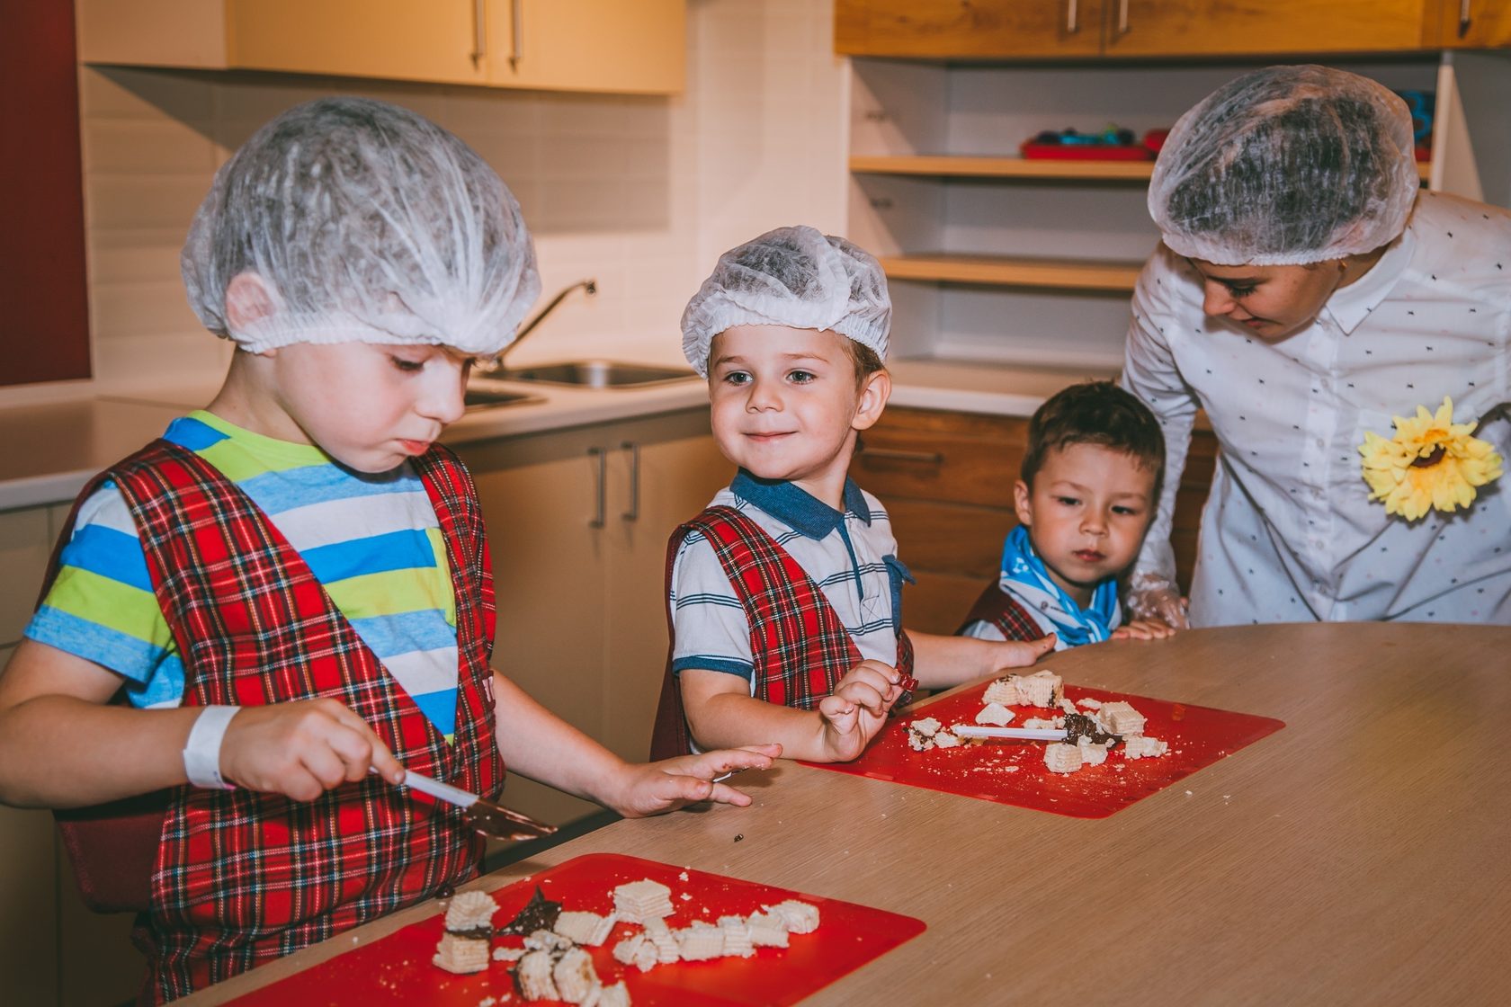
[[[246,69],[485,83],[473,0],[231,0],[228,63]]]

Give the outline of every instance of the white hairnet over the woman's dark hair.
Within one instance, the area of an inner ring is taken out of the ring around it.
[[[1177,255],[1319,263],[1392,242],[1417,186],[1405,101],[1340,69],[1269,66],[1180,116],[1148,211]]]

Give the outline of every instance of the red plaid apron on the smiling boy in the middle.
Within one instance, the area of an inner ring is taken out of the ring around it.
[[[820,699],[834,691],[840,678],[860,664],[860,651],[834,605],[807,571],[765,528],[734,507],[709,507],[671,536],[666,547],[666,625],[672,643],[672,566],[683,540],[694,531],[701,533],[713,547],[745,608],[751,631],[756,699],[798,710],[817,707]],[[905,688],[914,688],[913,642],[901,630],[896,669],[904,675]],[[904,696],[898,705],[907,702],[908,696]],[[692,738],[668,651],[651,758],[688,752],[692,752]]]

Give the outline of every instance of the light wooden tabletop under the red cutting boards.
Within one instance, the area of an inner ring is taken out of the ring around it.
[[[1043,664],[1287,726],[1103,820],[783,762],[740,778],[748,809],[620,821],[479,885],[616,851],[928,922],[811,1004],[1505,1002],[1511,630],[1200,630]],[[181,1002],[222,1002],[352,944]]]

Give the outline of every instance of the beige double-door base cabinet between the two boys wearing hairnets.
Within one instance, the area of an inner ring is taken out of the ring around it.
[[[642,761],[666,667],[666,540],[734,474],[707,408],[456,450],[493,548],[494,667]],[[558,824],[597,811],[512,774],[505,802]]]

